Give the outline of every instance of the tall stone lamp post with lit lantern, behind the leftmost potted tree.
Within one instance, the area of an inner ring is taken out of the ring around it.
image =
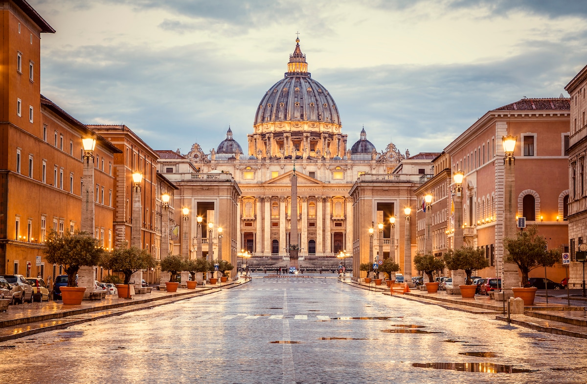
[[[96,138],[87,137],[82,139],[83,147],[83,174],[82,174],[82,221],[80,230],[86,232],[89,236],[95,236],[96,211],[94,195],[94,149],[96,148]],[[92,162],[90,162],[92,161]],[[77,283],[80,287],[93,287],[96,280],[96,269],[93,266],[80,267],[79,280]],[[86,289],[85,298],[89,298],[93,288]]]

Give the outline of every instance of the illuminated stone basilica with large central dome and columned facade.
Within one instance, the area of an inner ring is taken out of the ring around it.
[[[201,244],[203,254],[218,255],[220,244],[224,259],[235,261],[237,253],[247,250],[255,257],[283,260],[288,259],[289,245],[299,244],[301,260],[335,257],[341,251],[357,256],[358,232],[366,230],[366,222],[376,225],[378,216],[375,211],[363,218],[365,223],[353,220],[353,215],[357,215],[353,209],[356,202],[349,192],[363,175],[398,172],[400,162],[406,155],[409,157],[409,152],[402,154],[393,143],[377,151],[367,140],[365,128],[360,139],[348,145],[336,102],[308,72],[299,39],[289,56],[284,78],[269,87],[252,115],[253,132],[248,135],[245,150],[234,140],[229,127],[225,140],[210,153],[197,143],[187,154],[157,151],[158,172],[176,185],[209,189],[205,185],[208,182],[225,179],[234,182],[235,190],[238,189],[234,195],[238,220],[230,233],[226,229],[232,223],[228,216],[220,214],[227,205],[220,194],[183,196],[184,188],[176,192],[176,212],[183,207],[194,212],[186,224],[191,252],[198,252],[197,244]],[[417,158],[414,162],[421,165],[415,167],[418,169],[414,171],[414,181],[421,174],[431,173],[430,158]],[[292,202],[294,169],[298,193]],[[402,180],[409,178],[403,175]],[[296,218],[291,217],[292,203],[298,205],[293,210],[298,212]],[[397,205],[402,212],[403,208]],[[198,216],[203,218],[199,226]],[[175,218],[175,222],[180,221],[181,218]],[[290,237],[292,223],[298,226],[298,239]],[[222,228],[220,237],[218,227]],[[388,240],[389,233],[386,231]]]

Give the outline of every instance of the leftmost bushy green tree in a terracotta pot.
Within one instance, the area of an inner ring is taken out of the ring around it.
[[[100,240],[85,232],[65,232],[59,236],[55,230],[51,230],[45,246],[47,261],[59,264],[68,274],[68,286],[60,288],[63,304],[82,304],[86,287],[77,287],[77,271],[80,267],[96,266],[100,262],[103,254]]]

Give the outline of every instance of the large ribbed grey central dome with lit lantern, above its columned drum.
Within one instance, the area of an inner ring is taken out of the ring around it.
[[[299,39],[294,53],[289,55],[284,79],[269,88],[259,103],[254,125],[296,121],[341,124],[334,99],[308,72]]]

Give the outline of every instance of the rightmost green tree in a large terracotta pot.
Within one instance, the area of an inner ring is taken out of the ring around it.
[[[524,305],[534,304],[537,288],[530,287],[528,274],[537,267],[552,267],[561,257],[558,249],[548,250],[548,243],[544,236],[538,235],[538,227],[529,226],[526,230],[517,233],[515,239],[504,239],[508,255],[507,263],[517,264],[522,273],[521,287],[512,287],[514,297],[521,297]]]

